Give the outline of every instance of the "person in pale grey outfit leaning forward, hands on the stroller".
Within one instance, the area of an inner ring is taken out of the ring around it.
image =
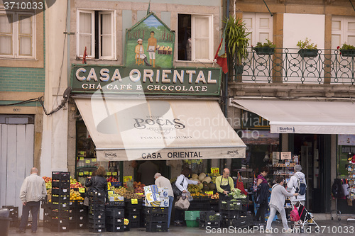
[[[292,232],[292,229],[288,227],[288,220],[286,219],[286,212],[283,206],[285,205],[285,197],[297,196],[298,193],[289,193],[286,191],[283,184],[283,176],[277,176],[276,184],[274,184],[271,189],[271,198],[269,203],[270,215],[268,217],[268,223],[266,223],[266,233],[271,232],[271,223],[273,223],[276,210],[280,213],[281,219],[283,220],[283,228],[285,229],[285,232]]]

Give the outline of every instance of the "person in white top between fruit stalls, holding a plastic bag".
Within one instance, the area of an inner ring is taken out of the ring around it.
[[[187,185],[198,184],[198,182],[195,180],[187,179],[187,177],[191,174],[191,172],[192,171],[190,168],[185,167],[184,169],[182,169],[181,174],[178,176],[178,178],[175,181],[175,185],[181,191],[182,196],[185,196],[185,193],[187,193]],[[178,196],[177,200],[180,197],[181,196]],[[184,210],[179,210],[175,208],[175,225],[181,226],[183,222],[184,222]]]

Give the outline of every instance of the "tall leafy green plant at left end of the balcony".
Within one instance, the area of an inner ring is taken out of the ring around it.
[[[226,24],[226,45],[228,45],[229,62],[236,70],[236,74],[243,73],[241,61],[248,57],[249,38],[246,24],[240,18],[230,17]]]

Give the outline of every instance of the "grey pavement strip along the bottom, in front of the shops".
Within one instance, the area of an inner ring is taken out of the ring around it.
[[[317,220],[317,224],[320,226],[317,230],[314,226],[310,229],[306,228],[306,232],[301,233],[298,229],[292,233],[282,232],[283,225],[277,221],[273,222],[273,233],[266,233],[264,230],[258,229],[258,227],[249,227],[244,229],[233,229],[231,227],[227,229],[217,228],[210,230],[201,230],[198,227],[177,227],[170,225],[168,232],[146,232],[145,228],[136,228],[131,229],[127,232],[102,232],[95,233],[89,232],[88,230],[70,230],[68,232],[51,232],[48,228],[38,227],[36,234],[31,233],[31,229],[27,229],[26,233],[16,232],[15,227],[9,228],[9,235],[19,236],[19,235],[37,235],[37,236],[87,236],[87,235],[96,235],[96,236],[106,236],[106,235],[122,235],[122,236],[141,236],[143,235],[184,235],[184,236],[197,236],[197,235],[232,235],[232,234],[243,234],[243,235],[354,235],[355,234],[355,220],[348,221],[346,219],[337,220]],[[289,223],[290,225],[290,223]],[[0,232],[1,235],[1,232]],[[6,236],[6,235],[4,235]]]

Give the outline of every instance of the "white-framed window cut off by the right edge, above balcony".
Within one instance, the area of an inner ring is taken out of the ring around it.
[[[355,17],[334,16],[332,18],[332,49],[343,43],[355,45]]]

